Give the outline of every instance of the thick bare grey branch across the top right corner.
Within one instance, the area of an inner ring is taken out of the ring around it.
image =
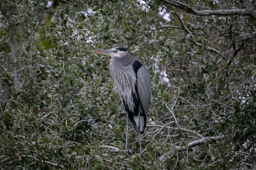
[[[235,8],[235,9],[220,9],[220,10],[203,10],[198,11],[194,8],[191,8],[191,6],[188,6],[187,4],[184,4],[181,1],[175,1],[175,0],[162,0],[164,3],[169,4],[171,6],[175,6],[176,8],[181,8],[188,13],[192,13],[196,16],[234,16],[234,15],[240,15],[240,16],[252,16],[256,18],[256,13],[254,11],[254,8],[252,7],[252,3],[249,1],[247,4],[250,4],[246,6],[246,8]]]

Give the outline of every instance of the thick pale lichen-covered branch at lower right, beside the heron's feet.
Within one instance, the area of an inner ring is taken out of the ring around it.
[[[163,154],[159,160],[161,162],[164,162],[167,157],[172,154],[173,152],[175,151],[186,151],[188,148],[191,148],[191,147],[196,147],[198,145],[202,145],[202,144],[206,144],[206,143],[209,143],[209,142],[212,142],[213,140],[218,140],[218,139],[221,139],[225,137],[224,135],[219,135],[219,136],[214,136],[214,137],[204,137],[203,139],[201,140],[195,140],[193,142],[189,142],[186,147],[180,147],[180,146],[176,146],[176,145],[173,145],[172,147],[174,147],[174,149],[171,149],[169,152]]]

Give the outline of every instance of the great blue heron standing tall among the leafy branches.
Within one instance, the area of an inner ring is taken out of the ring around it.
[[[90,50],[102,55],[110,55],[110,73],[114,79],[114,86],[119,91],[120,98],[127,112],[127,135],[125,149],[128,149],[129,120],[139,135],[139,152],[142,156],[141,134],[146,128],[146,118],[150,103],[149,74],[142,62],[137,60],[124,47],[111,50]],[[129,120],[128,120],[129,119]]]

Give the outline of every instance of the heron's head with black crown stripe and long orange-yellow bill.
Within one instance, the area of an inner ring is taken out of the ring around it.
[[[127,52],[129,53],[129,51],[124,47],[114,47],[110,50],[90,50],[89,52],[120,58],[125,57],[127,55]]]

